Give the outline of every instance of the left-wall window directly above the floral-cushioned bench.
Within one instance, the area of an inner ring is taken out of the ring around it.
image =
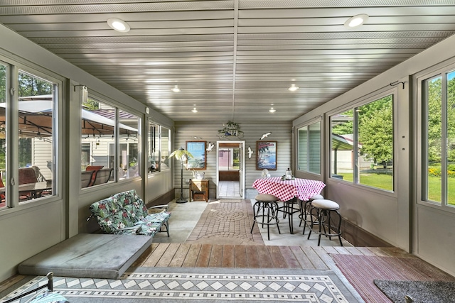
[[[92,97],[82,102],[81,187],[140,175],[139,127],[134,114]]]

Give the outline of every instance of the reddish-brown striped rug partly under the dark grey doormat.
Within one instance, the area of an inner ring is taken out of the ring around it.
[[[390,303],[374,280],[454,281],[455,277],[437,270],[419,258],[379,257],[373,255],[331,254],[346,279],[365,302]],[[405,302],[404,297],[402,302]]]

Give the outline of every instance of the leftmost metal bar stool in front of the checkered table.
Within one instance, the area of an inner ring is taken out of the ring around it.
[[[278,198],[272,194],[258,194],[256,197],[256,202],[253,205],[253,225],[251,226],[250,233],[253,232],[253,228],[255,227],[255,223],[267,225],[267,238],[270,240],[270,225],[277,225],[278,233],[281,234],[279,231],[279,219],[277,216],[278,213]],[[262,210],[262,214],[259,212]]]

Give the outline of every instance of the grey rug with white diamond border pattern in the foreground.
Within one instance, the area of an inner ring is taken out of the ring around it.
[[[54,291],[72,303],[358,302],[331,270],[136,268],[118,280],[54,277],[53,281]],[[45,282],[46,277],[35,277],[19,291]]]

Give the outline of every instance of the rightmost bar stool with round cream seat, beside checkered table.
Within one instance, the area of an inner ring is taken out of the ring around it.
[[[308,234],[308,239],[311,236],[311,231],[313,230],[313,226],[319,226],[319,230],[314,231],[315,233],[319,233],[318,239],[318,246],[321,243],[321,236],[328,236],[331,240],[331,237],[338,236],[338,240],[340,241],[340,245],[343,246],[343,242],[341,242],[341,215],[338,213],[338,209],[340,206],[338,203],[333,202],[332,200],[328,199],[316,199],[311,202],[311,207],[309,211],[309,215],[311,217],[311,228]],[[331,217],[331,214],[335,214],[338,216],[338,222],[334,221]],[[317,221],[314,221],[316,218]]]

